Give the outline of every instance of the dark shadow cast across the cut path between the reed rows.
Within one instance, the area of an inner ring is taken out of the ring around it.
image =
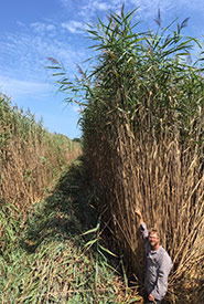
[[[79,157],[61,177],[52,195],[34,206],[21,247],[32,253],[45,239],[82,241],[79,234],[97,222],[96,211],[90,207],[93,200],[88,170]]]

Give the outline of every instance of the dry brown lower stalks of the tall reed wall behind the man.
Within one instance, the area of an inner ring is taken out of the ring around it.
[[[148,227],[161,231],[162,245],[173,260],[167,301],[198,303],[204,261],[202,157],[196,147],[183,150],[176,138],[158,143],[152,134],[146,134],[136,139],[128,124],[118,127],[115,135],[109,147],[104,146],[107,138],[96,135],[98,150],[94,145],[87,151],[93,179],[100,188],[99,209],[112,233],[115,250],[125,254],[129,272],[141,282],[143,250],[135,216],[135,209],[140,208]]]

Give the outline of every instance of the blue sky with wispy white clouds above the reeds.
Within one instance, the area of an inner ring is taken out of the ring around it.
[[[43,118],[50,132],[69,138],[80,136],[77,127],[78,107],[65,107],[56,86],[47,57],[63,62],[68,74],[77,74],[76,64],[92,55],[85,39],[86,24],[104,19],[107,11],[139,7],[136,19],[144,29],[154,24],[160,8],[163,25],[179,18],[190,17],[184,34],[204,34],[203,0],[7,0],[1,1],[0,18],[0,91],[11,96],[12,104],[30,108]]]

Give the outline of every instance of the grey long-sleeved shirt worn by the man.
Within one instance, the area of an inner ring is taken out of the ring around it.
[[[155,251],[151,250],[149,243],[149,232],[146,223],[140,224],[140,230],[144,241],[147,269],[144,276],[144,289],[148,294],[161,301],[168,291],[168,276],[172,268],[172,261],[168,252],[160,245]]]

